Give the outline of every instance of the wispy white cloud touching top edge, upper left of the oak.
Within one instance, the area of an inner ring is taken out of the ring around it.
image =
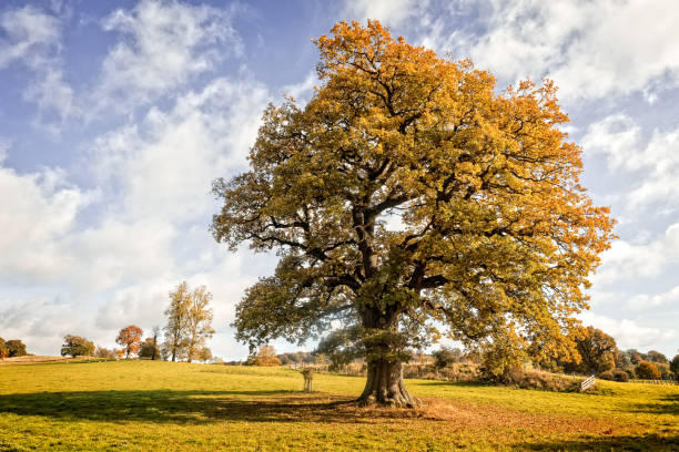
[[[100,109],[128,111],[148,103],[213,69],[224,55],[240,53],[230,22],[227,10],[176,1],[142,0],[111,13],[103,28],[121,40],[102,63],[94,93]]]

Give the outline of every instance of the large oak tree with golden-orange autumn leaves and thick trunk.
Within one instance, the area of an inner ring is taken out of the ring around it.
[[[376,21],[315,43],[312,100],[270,105],[250,171],[214,182],[215,239],[280,256],[240,302],[236,337],[304,341],[336,320],[331,342],[367,359],[359,400],[396,405],[417,403],[407,349],[444,333],[498,372],[568,350],[612,222],[579,185],[555,85],[498,93]]]

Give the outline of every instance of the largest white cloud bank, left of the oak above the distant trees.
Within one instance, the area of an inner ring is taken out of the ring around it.
[[[0,192],[13,204],[3,205],[0,220],[7,215],[13,223],[2,237],[12,248],[0,268],[7,275],[22,274],[60,298],[10,292],[4,306],[21,327],[9,329],[2,319],[0,330],[23,331],[36,352],[58,352],[65,333],[111,347],[115,332],[129,323],[144,329],[162,323],[168,291],[186,279],[214,294],[217,350],[244,355],[226,326],[245,287],[271,270],[271,259],[245,249],[234,256],[214,243],[207,226],[219,206],[210,187],[214,177],[244,168],[267,101],[268,91],[260,83],[216,79],[179,95],[169,109],[152,107],[134,125],[95,140],[82,167],[92,171],[101,187],[97,199],[87,198],[97,201],[89,210],[99,215],[87,226],[75,219],[85,205],[77,201],[88,194],[68,184],[63,172],[20,176],[2,170]],[[22,215],[21,207],[27,208]],[[42,274],[22,263],[40,264]],[[28,316],[19,322],[24,309],[18,307],[24,305],[49,314],[44,320],[54,328],[33,331]]]

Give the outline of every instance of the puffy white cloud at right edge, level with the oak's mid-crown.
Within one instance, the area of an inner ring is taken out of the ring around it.
[[[591,124],[581,144],[585,152],[604,155],[612,171],[640,173],[626,193],[629,209],[657,203],[665,212],[679,207],[679,129],[655,130],[643,143],[641,129],[630,117],[615,114]]]

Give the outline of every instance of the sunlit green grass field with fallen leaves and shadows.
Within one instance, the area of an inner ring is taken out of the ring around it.
[[[679,387],[557,393],[408,380],[417,410],[356,408],[363,378],[154,361],[0,368],[0,451],[679,450]]]

